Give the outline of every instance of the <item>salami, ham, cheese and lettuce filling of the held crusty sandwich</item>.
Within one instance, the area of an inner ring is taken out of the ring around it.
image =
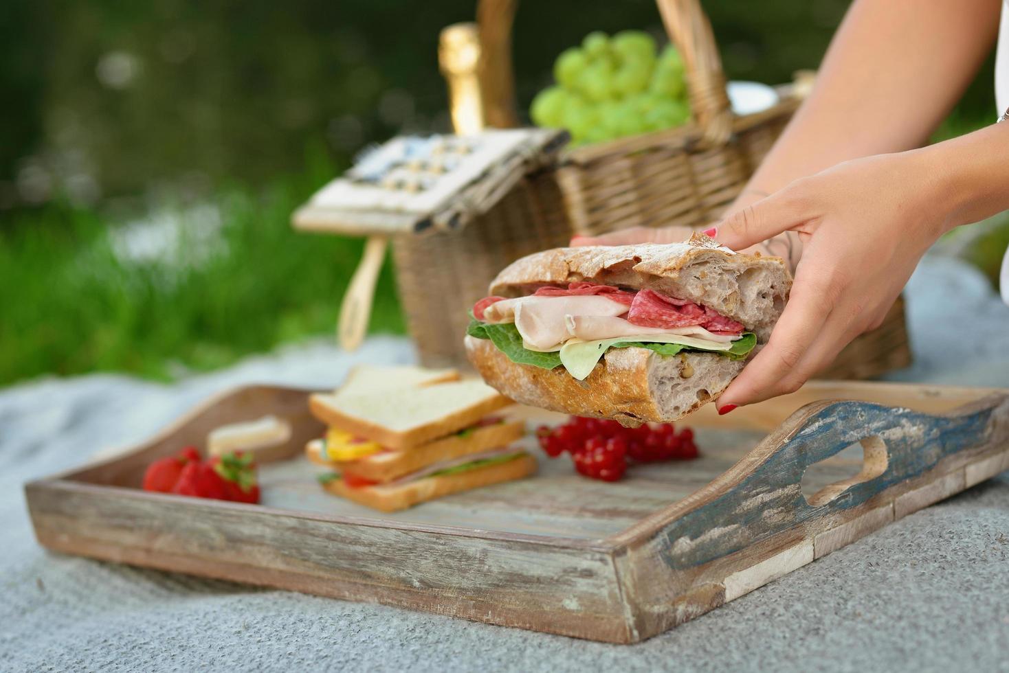
[[[652,289],[571,283],[541,287],[514,299],[484,297],[467,333],[488,339],[515,363],[564,367],[579,381],[610,348],[644,348],[662,356],[682,351],[745,359],[757,336],[740,322],[686,299]]]

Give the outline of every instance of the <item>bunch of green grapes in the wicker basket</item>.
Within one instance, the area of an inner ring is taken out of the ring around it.
[[[683,58],[672,44],[659,53],[641,30],[600,31],[554,62],[553,87],[530,108],[537,126],[567,129],[584,145],[674,128],[690,119]]]

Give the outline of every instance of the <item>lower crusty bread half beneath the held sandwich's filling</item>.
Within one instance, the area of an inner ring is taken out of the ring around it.
[[[642,422],[672,422],[718,398],[743,368],[742,362],[713,354],[683,353],[663,357],[648,349],[611,349],[584,381],[578,381],[563,367],[552,370],[520,365],[509,360],[486,339],[466,336],[466,355],[488,385],[521,404],[551,409],[576,416],[613,418],[625,425]],[[657,361],[676,366],[684,384],[711,363],[724,373],[714,381],[697,379],[697,392],[687,395],[688,403],[672,412],[655,391],[653,370]],[[698,393],[703,390],[702,396]]]

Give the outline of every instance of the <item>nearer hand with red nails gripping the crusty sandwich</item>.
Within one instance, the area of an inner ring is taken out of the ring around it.
[[[767,347],[719,411],[790,393],[853,339],[880,325],[918,260],[952,226],[922,194],[932,171],[914,152],[857,159],[796,180],[708,230],[734,250],[785,232],[803,250]]]

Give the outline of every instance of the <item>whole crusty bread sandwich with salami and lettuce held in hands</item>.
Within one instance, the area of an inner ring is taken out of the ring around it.
[[[632,425],[674,421],[716,399],[767,343],[791,283],[781,259],[703,235],[547,250],[490,283],[466,351],[517,402]]]

